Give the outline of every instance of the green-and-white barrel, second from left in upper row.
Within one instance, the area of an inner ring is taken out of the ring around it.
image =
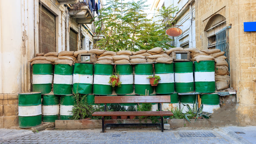
[[[74,65],[57,64],[54,67],[53,93],[54,95],[72,94]]]

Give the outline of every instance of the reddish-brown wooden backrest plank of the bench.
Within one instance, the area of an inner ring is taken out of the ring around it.
[[[170,103],[170,95],[96,96],[95,103]]]

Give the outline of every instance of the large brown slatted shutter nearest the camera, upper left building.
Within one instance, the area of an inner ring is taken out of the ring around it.
[[[56,52],[55,15],[39,3],[38,51],[39,53]]]

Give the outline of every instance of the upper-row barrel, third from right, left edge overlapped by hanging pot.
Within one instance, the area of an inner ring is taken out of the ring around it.
[[[155,91],[157,94],[170,94],[174,92],[173,63],[154,64],[155,75],[160,76]]]

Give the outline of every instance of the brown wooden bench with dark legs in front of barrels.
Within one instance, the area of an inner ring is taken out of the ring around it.
[[[108,127],[160,126],[163,132],[163,116],[173,116],[171,111],[162,111],[161,103],[170,103],[169,95],[153,96],[96,96],[95,103],[104,103],[104,111],[94,112],[92,116],[102,116],[102,132]],[[107,103],[160,103],[160,111],[107,111]],[[161,116],[161,124],[104,124],[104,116]]]

